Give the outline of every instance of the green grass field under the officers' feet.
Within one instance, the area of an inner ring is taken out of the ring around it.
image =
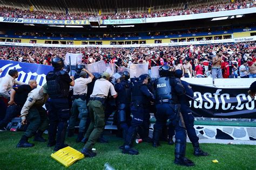
[[[34,147],[16,148],[23,132],[0,132],[0,169],[103,169],[105,162],[116,169],[256,169],[256,146],[253,145],[224,145],[201,144],[208,157],[194,157],[192,145],[187,144],[187,158],[194,161],[196,166],[183,167],[173,163],[174,146],[161,142],[161,147],[153,148],[149,143],[136,144],[139,155],[122,154],[118,146],[123,144],[121,138],[105,136],[109,144],[95,145],[97,156],[84,158],[65,168],[51,158],[53,147],[47,143],[33,142]],[[44,134],[47,138],[47,135]],[[67,138],[66,143],[80,151],[82,143],[75,143],[76,137]],[[217,159],[218,164],[212,160]]]

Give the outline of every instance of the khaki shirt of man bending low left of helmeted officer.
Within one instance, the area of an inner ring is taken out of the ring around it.
[[[48,100],[49,98],[48,94],[44,94],[41,89],[42,88],[36,88],[30,91],[28,98],[26,98],[26,102],[23,105],[23,108],[21,110],[20,117],[22,119],[26,119],[25,116],[29,114],[29,109],[32,106],[42,107]]]

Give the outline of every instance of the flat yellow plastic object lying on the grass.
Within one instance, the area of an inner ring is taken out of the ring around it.
[[[75,161],[83,159],[84,154],[68,146],[52,153],[51,157],[60,162],[60,164],[63,164],[65,167],[69,167]]]

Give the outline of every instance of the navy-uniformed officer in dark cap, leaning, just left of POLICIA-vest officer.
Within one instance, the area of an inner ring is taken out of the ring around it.
[[[120,147],[123,149],[122,153],[139,154],[137,150],[131,147],[138,129],[144,128],[144,118],[148,117],[149,112],[147,108],[149,107],[150,101],[154,101],[154,95],[147,87],[147,79],[147,75],[140,75],[138,82],[134,82],[134,86],[132,87],[131,112],[133,117],[131,126],[126,134],[124,146]]]

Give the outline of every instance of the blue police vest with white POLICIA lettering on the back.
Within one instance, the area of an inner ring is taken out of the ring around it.
[[[156,100],[171,100],[172,87],[169,77],[160,77],[155,84]]]

